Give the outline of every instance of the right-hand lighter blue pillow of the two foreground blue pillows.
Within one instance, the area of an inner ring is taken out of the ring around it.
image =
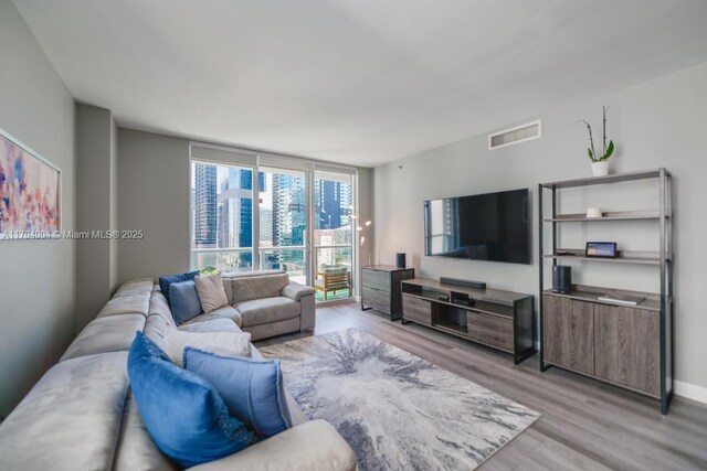
[[[220,356],[188,346],[184,368],[217,388],[231,415],[261,437],[292,426],[277,360]]]

